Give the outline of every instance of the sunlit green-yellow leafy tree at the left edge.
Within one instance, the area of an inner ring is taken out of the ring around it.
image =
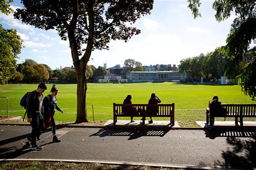
[[[1,2],[2,5],[2,2]],[[2,10],[2,7],[1,7]],[[5,9],[4,9],[5,10]],[[0,83],[15,76],[16,59],[21,53],[22,39],[16,30],[4,29],[0,24]]]

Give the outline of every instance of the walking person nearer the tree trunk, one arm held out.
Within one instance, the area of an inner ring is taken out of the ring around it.
[[[54,114],[55,114],[55,109],[63,113],[63,110],[59,108],[57,105],[57,94],[58,94],[58,89],[53,84],[51,88],[51,94],[46,96],[43,100],[43,106],[44,106],[44,119],[45,119],[45,128],[48,128],[51,126],[52,130],[52,135],[53,139],[52,142],[60,142],[60,140],[56,136],[56,123],[54,120]]]

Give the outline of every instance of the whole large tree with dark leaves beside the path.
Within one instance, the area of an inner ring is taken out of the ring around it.
[[[17,9],[15,18],[40,29],[56,29],[63,40],[69,40],[77,73],[76,123],[87,122],[85,71],[92,50],[109,49],[107,44],[111,39],[127,42],[140,33],[127,23],[134,23],[150,13],[153,0],[23,0],[22,3],[24,8]],[[85,48],[83,44],[86,44]]]

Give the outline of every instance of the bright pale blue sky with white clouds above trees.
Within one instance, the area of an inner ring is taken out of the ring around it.
[[[124,61],[131,58],[143,65],[179,65],[181,59],[212,52],[226,44],[236,17],[232,14],[225,21],[217,22],[212,3],[211,0],[201,0],[199,11],[202,17],[194,19],[186,0],[154,0],[151,14],[133,24],[141,30],[139,35],[127,43],[112,40],[110,50],[93,51],[88,64],[98,67],[106,63],[107,68],[116,64],[123,66]],[[11,5],[14,9],[22,6],[19,0]],[[18,55],[17,63],[29,58],[47,64],[52,70],[73,65],[69,42],[61,40],[57,31],[23,24],[11,14],[0,13],[0,23],[5,29],[16,29],[23,39],[25,47]]]

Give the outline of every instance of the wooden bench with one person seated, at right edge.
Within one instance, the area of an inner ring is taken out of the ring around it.
[[[218,113],[216,115],[216,113],[211,111],[211,105],[212,104],[210,104],[210,108],[206,108],[206,124],[210,123],[210,125],[213,125],[211,118],[224,117],[226,120],[227,117],[232,117],[235,118],[235,125],[238,125],[238,122],[240,122],[240,126],[243,126],[242,118],[256,117],[256,104],[220,104],[220,106],[225,108],[227,111],[226,115],[221,115]],[[240,119],[239,121],[238,118]]]

